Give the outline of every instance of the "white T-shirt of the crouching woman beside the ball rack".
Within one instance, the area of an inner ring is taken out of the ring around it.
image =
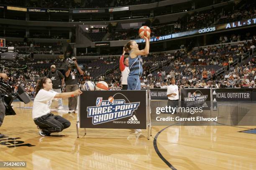
[[[32,110],[32,118],[38,118],[51,112],[51,101],[58,92],[53,90],[46,91],[44,89],[39,90],[37,93]]]

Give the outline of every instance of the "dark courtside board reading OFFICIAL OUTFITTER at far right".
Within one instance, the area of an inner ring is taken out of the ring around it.
[[[241,89],[242,90],[242,89]],[[251,91],[216,90],[218,101],[251,101]]]

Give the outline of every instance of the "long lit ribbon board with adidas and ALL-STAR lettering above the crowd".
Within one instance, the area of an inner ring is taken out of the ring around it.
[[[150,42],[156,42],[156,41],[161,41],[161,40],[170,40],[170,39],[174,39],[174,38],[178,38],[178,37],[204,34],[204,33],[215,32],[215,31],[219,31],[219,30],[227,30],[230,28],[238,28],[238,27],[254,25],[254,24],[256,24],[256,18],[251,18],[251,19],[236,21],[236,22],[232,22],[232,23],[213,25],[211,27],[205,27],[205,28],[200,28],[200,29],[196,29],[196,30],[178,32],[178,33],[162,35],[162,36],[158,36],[158,37],[151,37]],[[135,41],[137,43],[145,42],[144,39],[137,39]]]

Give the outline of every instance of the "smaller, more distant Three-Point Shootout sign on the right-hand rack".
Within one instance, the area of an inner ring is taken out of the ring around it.
[[[210,88],[183,88],[181,89],[182,107],[202,107],[203,110],[211,109]]]

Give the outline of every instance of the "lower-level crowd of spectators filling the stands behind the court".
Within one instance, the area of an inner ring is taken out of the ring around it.
[[[224,35],[220,37],[220,43],[223,40],[236,42],[240,40],[240,35],[231,35],[230,39]],[[36,44],[33,40],[31,42],[7,42],[8,46],[14,44],[24,46],[26,45],[24,43]],[[252,41],[238,42],[233,46],[225,43],[205,46],[192,51],[186,51],[181,47],[181,50],[174,53],[159,52],[143,56],[144,72],[141,77],[141,87],[146,88],[148,85],[150,88],[166,88],[171,77],[175,77],[177,85],[180,87],[255,87],[255,45],[256,36],[254,35]],[[248,52],[252,54],[253,51],[254,55],[248,56]],[[100,73],[97,70],[105,72],[108,69],[107,65],[113,68],[114,65],[118,65],[118,60],[118,57],[78,60],[78,63],[83,65],[82,69],[85,72],[85,75],[80,77],[80,85],[89,80],[95,81],[95,83],[106,81],[110,90],[121,89],[120,70],[115,69],[108,75],[94,74]],[[236,60],[239,63],[235,62]],[[27,65],[26,69],[7,72],[10,75],[8,81],[16,91],[18,85],[23,85],[28,94],[33,97],[36,80],[48,75],[51,64],[61,65],[63,63],[63,57],[56,60],[26,61],[23,63]],[[225,66],[225,72],[217,75],[216,71]],[[150,72],[152,67],[158,67],[158,69]]]

